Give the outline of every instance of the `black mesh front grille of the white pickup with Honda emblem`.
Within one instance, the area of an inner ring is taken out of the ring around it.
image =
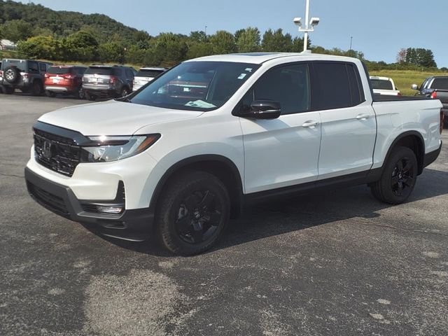
[[[73,139],[34,129],[36,161],[59,174],[72,176],[80,160],[80,146]]]

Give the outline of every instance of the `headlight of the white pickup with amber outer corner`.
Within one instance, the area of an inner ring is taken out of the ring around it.
[[[92,144],[81,148],[80,162],[109,162],[137,155],[158,141],[160,134],[130,137],[89,137]]]

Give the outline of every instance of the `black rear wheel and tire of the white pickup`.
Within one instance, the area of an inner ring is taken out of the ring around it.
[[[374,197],[388,204],[407,200],[417,180],[418,165],[414,151],[408,147],[393,148],[379,181],[370,185]]]

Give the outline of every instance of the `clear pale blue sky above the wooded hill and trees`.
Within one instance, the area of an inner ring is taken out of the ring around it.
[[[28,1],[22,1],[27,3]],[[305,0],[34,0],[54,10],[102,13],[148,31],[190,34],[235,32],[258,27],[301,36],[293,18],[304,18]],[[310,17],[321,19],[313,45],[362,51],[371,61],[395,62],[400,48],[433,50],[437,66],[448,67],[448,0],[310,0]]]

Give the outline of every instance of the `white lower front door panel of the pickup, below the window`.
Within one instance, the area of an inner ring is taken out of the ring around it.
[[[246,193],[316,181],[321,126],[318,112],[296,113],[274,120],[241,118],[244,134]]]

